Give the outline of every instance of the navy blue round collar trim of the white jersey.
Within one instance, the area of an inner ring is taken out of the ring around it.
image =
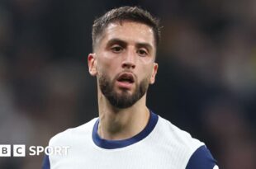
[[[102,139],[97,134],[97,127],[99,124],[99,120],[97,119],[96,123],[93,126],[93,130],[92,130],[92,140],[100,148],[106,148],[106,149],[124,148],[133,143],[137,143],[140,140],[142,140],[143,138],[147,137],[151,133],[151,131],[154,129],[154,126],[157,124],[158,120],[159,120],[159,116],[155,115],[150,110],[149,122],[145,126],[145,129],[143,129],[139,134],[136,134],[132,138],[127,138],[127,139],[122,139],[122,140],[107,140],[107,139]]]

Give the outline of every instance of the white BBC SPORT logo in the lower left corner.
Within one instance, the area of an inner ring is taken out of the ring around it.
[[[30,146],[28,148],[29,156],[39,156],[41,153],[46,155],[66,156],[69,153],[69,146]],[[26,157],[25,144],[0,144],[0,157]]]

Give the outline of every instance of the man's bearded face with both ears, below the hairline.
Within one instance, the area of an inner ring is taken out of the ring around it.
[[[122,21],[107,26],[89,54],[89,71],[97,75],[100,91],[112,106],[133,106],[154,83],[154,32],[145,24]]]

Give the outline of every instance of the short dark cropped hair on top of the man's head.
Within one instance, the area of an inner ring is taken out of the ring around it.
[[[103,16],[98,17],[92,26],[92,49],[94,50],[96,40],[105,31],[107,26],[115,21],[135,21],[149,26],[154,31],[155,45],[159,45],[160,26],[159,19],[140,7],[118,7]]]

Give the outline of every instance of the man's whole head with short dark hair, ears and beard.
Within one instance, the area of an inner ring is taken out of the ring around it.
[[[98,18],[92,27],[89,72],[98,92],[116,108],[133,106],[154,83],[159,43],[158,22],[138,7],[120,7]]]

